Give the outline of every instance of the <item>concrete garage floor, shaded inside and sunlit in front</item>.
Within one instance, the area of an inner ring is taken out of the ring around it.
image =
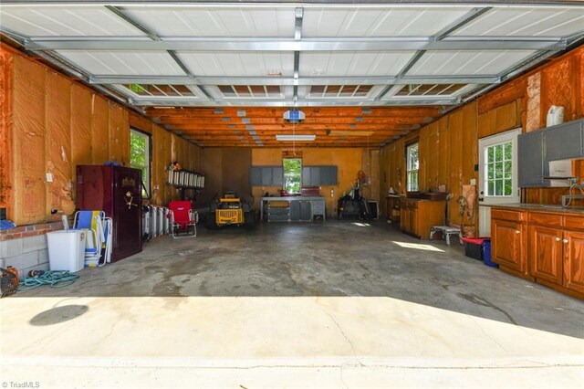
[[[582,387],[584,303],[382,221],[173,240],[0,300],[40,387]]]

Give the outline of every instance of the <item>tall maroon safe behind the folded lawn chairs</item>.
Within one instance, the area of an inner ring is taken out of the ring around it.
[[[76,193],[78,209],[102,210],[113,220],[112,262],[141,252],[140,170],[78,165]]]

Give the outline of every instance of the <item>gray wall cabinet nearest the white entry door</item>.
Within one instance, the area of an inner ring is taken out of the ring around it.
[[[519,187],[542,187],[549,184],[544,180],[549,167],[545,158],[544,131],[526,132],[519,135],[517,161]]]

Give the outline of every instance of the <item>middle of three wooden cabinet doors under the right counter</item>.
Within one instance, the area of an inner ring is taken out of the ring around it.
[[[537,279],[562,284],[562,230],[529,226],[529,273]]]

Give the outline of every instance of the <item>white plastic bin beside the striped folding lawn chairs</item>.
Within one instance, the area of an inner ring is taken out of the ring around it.
[[[53,231],[47,234],[48,266],[51,270],[71,273],[85,266],[85,238],[87,231]]]

